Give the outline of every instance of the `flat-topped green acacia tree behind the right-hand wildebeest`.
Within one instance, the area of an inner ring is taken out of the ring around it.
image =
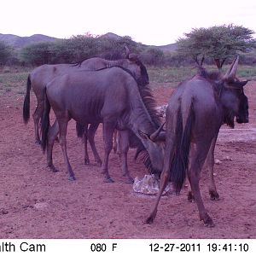
[[[205,57],[209,57],[219,69],[227,58],[253,48],[253,31],[232,24],[194,28],[192,32],[185,33],[185,38],[177,40],[177,51],[180,54],[192,57],[198,65],[202,65]]]

